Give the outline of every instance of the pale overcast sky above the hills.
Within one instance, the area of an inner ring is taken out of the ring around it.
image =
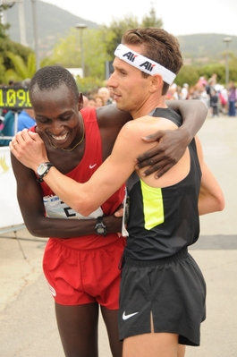
[[[174,36],[218,33],[237,36],[237,0],[44,0],[84,20],[109,25],[134,15],[139,20],[153,6],[163,28]],[[81,6],[81,4],[83,4]]]

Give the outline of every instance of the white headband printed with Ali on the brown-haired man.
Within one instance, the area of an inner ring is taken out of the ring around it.
[[[115,49],[114,55],[142,72],[150,75],[161,74],[165,83],[172,84],[176,77],[176,74],[167,70],[163,65],[157,64],[157,62],[145,57],[145,55],[140,55],[122,44]]]

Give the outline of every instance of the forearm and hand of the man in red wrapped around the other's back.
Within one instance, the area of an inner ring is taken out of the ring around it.
[[[136,168],[149,166],[144,174],[157,172],[161,177],[183,156],[207,117],[207,106],[199,100],[168,100],[166,105],[182,115],[182,126],[176,131],[159,131],[143,140],[159,141],[159,145],[137,157]]]

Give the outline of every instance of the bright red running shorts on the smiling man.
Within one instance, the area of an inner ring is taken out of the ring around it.
[[[43,268],[55,302],[62,305],[97,302],[117,310],[121,279],[118,266],[124,245],[125,238],[119,238],[103,248],[77,251],[50,239]]]

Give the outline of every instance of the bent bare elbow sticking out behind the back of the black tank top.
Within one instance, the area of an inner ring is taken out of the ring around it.
[[[199,163],[202,177],[199,191],[199,216],[224,209],[224,194],[216,178],[211,173],[203,160],[203,153],[199,139],[196,137],[196,145],[199,154]]]

